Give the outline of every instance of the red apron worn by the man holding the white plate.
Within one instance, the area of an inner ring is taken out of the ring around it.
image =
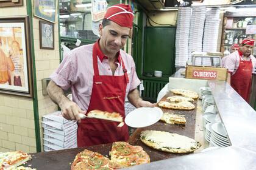
[[[120,56],[121,57],[121,56]],[[98,56],[96,46],[93,46],[93,89],[91,100],[87,110],[98,109],[107,112],[118,112],[123,118],[124,100],[126,96],[126,85],[129,83],[126,68],[121,59],[124,75],[109,76],[99,75]],[[127,141],[129,131],[126,124],[117,127],[118,122],[85,118],[78,124],[77,146],[91,146],[96,144],[113,143],[114,141]]]

